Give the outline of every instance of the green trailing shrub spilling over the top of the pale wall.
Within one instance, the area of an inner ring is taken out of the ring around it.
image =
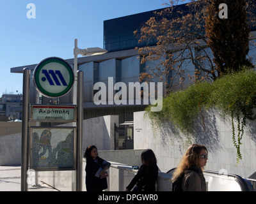
[[[185,91],[172,92],[163,99],[161,112],[146,112],[150,119],[161,125],[169,120],[185,135],[195,133],[195,122],[198,116],[205,129],[204,113],[216,107],[221,115],[230,117],[232,122],[232,140],[237,150],[237,164],[242,159],[240,147],[247,120],[255,120],[253,109],[256,106],[256,72],[243,68],[243,71],[230,73],[210,83],[197,82]],[[237,122],[237,130],[234,119]]]

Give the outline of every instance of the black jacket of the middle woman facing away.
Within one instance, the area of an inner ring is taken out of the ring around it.
[[[140,166],[138,173],[131,180],[130,184],[126,187],[131,191],[132,187],[137,184],[137,186],[145,186],[144,191],[156,191],[156,180],[158,175],[157,164],[151,166],[145,166],[144,164]]]

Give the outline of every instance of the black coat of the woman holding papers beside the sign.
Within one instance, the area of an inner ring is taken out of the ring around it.
[[[95,177],[95,173],[97,173],[99,168],[103,169],[105,165],[110,166],[110,163],[100,157],[97,157],[95,160],[92,158],[86,159],[86,191],[102,191],[108,188],[106,178],[100,179]]]

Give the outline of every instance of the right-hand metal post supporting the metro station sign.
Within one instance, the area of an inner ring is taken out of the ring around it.
[[[76,191],[83,191],[83,71],[77,71],[77,170]]]

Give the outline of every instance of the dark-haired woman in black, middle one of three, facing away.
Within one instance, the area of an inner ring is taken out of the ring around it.
[[[126,187],[126,191],[156,191],[156,180],[158,175],[157,160],[151,149],[144,150],[141,153],[141,163],[138,173]]]

